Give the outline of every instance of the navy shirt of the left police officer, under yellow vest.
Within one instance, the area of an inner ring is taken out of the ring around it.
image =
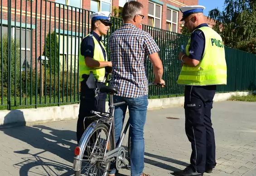
[[[99,44],[101,46],[101,43],[100,43],[101,37],[94,31],[91,31],[90,33],[97,39],[97,41],[99,42]],[[93,41],[92,36],[88,36],[88,37],[83,38],[82,42],[81,42],[81,55],[84,56],[84,57],[93,58],[94,46],[95,45],[94,45],[94,41]],[[103,52],[105,61],[107,61],[106,60],[106,51],[103,49],[102,46],[101,46],[101,50]]]

